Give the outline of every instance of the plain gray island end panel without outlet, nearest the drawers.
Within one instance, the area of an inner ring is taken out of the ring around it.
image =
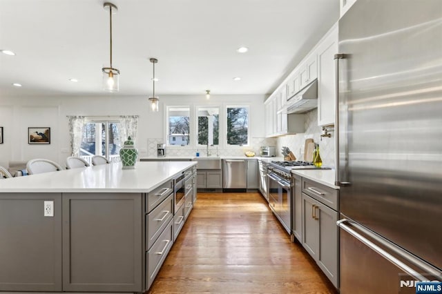
[[[63,291],[140,291],[142,195],[63,197]]]

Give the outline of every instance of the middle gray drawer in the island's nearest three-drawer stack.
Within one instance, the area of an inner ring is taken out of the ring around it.
[[[157,237],[161,234],[173,217],[173,197],[169,196],[157,208],[146,215],[146,244],[151,248]]]

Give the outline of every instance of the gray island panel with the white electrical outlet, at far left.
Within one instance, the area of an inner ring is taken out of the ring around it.
[[[0,291],[62,291],[61,265],[61,193],[1,193]]]

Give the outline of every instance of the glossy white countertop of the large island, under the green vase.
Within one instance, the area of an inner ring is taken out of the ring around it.
[[[150,161],[123,170],[121,163],[73,168],[0,180],[0,192],[35,193],[148,193],[196,161]]]

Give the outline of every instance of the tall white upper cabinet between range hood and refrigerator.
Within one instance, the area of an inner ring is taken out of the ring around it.
[[[336,101],[334,55],[338,53],[338,26],[318,44],[318,126],[334,124]]]

